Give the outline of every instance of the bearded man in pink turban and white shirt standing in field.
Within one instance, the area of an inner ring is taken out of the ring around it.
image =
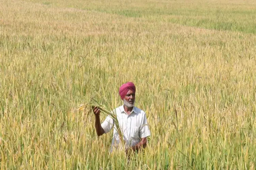
[[[119,88],[119,95],[124,101],[124,105],[115,108],[119,126],[128,150],[138,151],[145,148],[147,145],[147,137],[150,136],[150,130],[147,125],[147,118],[144,111],[134,106],[136,87],[132,82],[123,84]],[[114,121],[110,116],[107,116],[104,122],[100,122],[100,109],[96,106],[93,108],[95,114],[95,128],[98,136],[110,132],[114,126]],[[114,128],[112,139],[112,147],[119,146],[119,135]]]

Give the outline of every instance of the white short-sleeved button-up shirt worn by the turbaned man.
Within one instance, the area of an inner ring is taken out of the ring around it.
[[[116,113],[120,129],[123,133],[125,145],[127,147],[134,146],[140,142],[141,138],[150,136],[150,129],[147,124],[147,118],[144,111],[133,106],[131,113],[128,115],[124,110],[124,105],[115,108],[112,112]],[[119,146],[119,135],[116,131],[114,121],[110,116],[107,116],[101,124],[105,133],[110,132],[114,126],[112,139],[112,147]],[[112,148],[110,150],[112,152]]]

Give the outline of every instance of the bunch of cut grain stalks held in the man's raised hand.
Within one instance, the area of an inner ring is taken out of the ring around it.
[[[119,147],[120,147],[120,149],[125,148],[124,147],[125,146],[125,142],[124,142],[124,138],[123,138],[123,133],[121,131],[121,128],[120,128],[120,125],[119,125],[116,113],[109,111],[109,108],[106,105],[100,104],[100,103],[98,103],[96,101],[95,103],[81,104],[79,106],[79,108],[76,109],[76,111],[84,110],[84,109],[86,109],[88,107],[93,109],[95,106],[98,107],[100,109],[100,112],[103,113],[105,116],[110,116],[113,119],[113,121],[114,121],[114,128],[117,131],[117,133],[119,135],[119,139],[120,139]]]

